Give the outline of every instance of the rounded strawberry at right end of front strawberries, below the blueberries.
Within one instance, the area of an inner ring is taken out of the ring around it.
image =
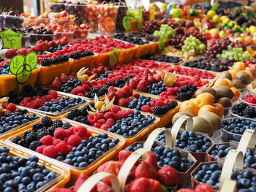
[[[157,171],[157,177],[158,177],[158,180],[165,186],[176,185],[176,180],[177,180],[176,171],[171,166],[162,166]]]

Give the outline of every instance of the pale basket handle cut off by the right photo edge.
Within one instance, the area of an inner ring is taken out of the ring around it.
[[[256,131],[247,128],[240,139],[237,150],[241,150],[241,152],[245,154],[247,147],[252,147],[252,148],[255,147],[255,141],[256,141]]]

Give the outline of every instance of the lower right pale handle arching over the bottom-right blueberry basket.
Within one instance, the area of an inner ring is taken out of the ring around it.
[[[222,174],[220,175],[219,187],[222,188],[225,180],[230,180],[234,166],[243,169],[244,155],[239,150],[230,150],[222,166]]]

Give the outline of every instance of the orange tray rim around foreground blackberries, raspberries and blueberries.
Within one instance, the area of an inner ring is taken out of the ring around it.
[[[62,120],[64,123],[68,122],[65,120]],[[41,121],[39,121],[41,123]],[[71,123],[72,126],[77,126],[78,123]],[[83,125],[84,126],[84,125]],[[96,134],[103,134],[105,133],[105,131],[102,131],[100,129],[96,129],[96,128],[91,128],[90,126],[84,126],[87,128],[88,131],[91,132],[91,134],[93,136],[95,136]],[[10,137],[7,138],[8,142],[11,142],[12,139],[16,136],[20,136],[22,137],[23,133],[25,131],[31,131],[32,130],[32,124],[30,124],[29,126],[26,126],[26,128],[22,128],[19,131],[15,131],[15,133],[13,133],[12,135],[10,135]],[[118,137],[116,135],[110,134],[108,133],[108,137],[110,139],[114,139],[114,138],[118,138],[119,142],[118,144],[113,147],[112,149],[108,150],[107,152],[105,152],[103,155],[101,155],[99,158],[97,158],[97,160],[95,160],[93,163],[89,164],[86,167],[76,167],[76,166],[71,166],[69,164],[65,164],[64,162],[58,161],[56,159],[53,158],[49,158],[49,157],[45,157],[45,155],[42,155],[40,153],[37,153],[33,150],[30,150],[26,147],[22,147],[20,145],[14,144],[12,143],[13,146],[15,146],[16,148],[20,147],[20,150],[24,150],[24,151],[29,151],[29,153],[33,154],[33,155],[37,155],[38,157],[44,157],[45,159],[49,159],[50,161],[53,161],[55,164],[61,164],[61,166],[65,166],[68,167],[70,169],[71,172],[71,178],[69,180],[69,184],[72,185],[75,183],[75,181],[77,180],[78,176],[80,173],[85,173],[85,174],[93,174],[93,172],[103,163],[105,163],[105,161],[110,161],[110,159],[112,159],[115,155],[118,154],[118,152],[124,148],[124,144],[125,144],[125,139]]]

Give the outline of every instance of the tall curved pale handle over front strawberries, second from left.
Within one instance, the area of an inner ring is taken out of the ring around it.
[[[146,150],[145,148],[140,148],[138,150],[135,150],[135,152],[129,155],[127,160],[124,161],[124,164],[123,166],[121,166],[121,169],[118,173],[121,191],[124,191],[125,183],[127,182],[127,177],[129,176],[129,172],[131,171],[132,167],[135,165],[135,163],[141,156],[143,156],[143,159],[145,159],[148,153],[153,152],[151,150]]]

